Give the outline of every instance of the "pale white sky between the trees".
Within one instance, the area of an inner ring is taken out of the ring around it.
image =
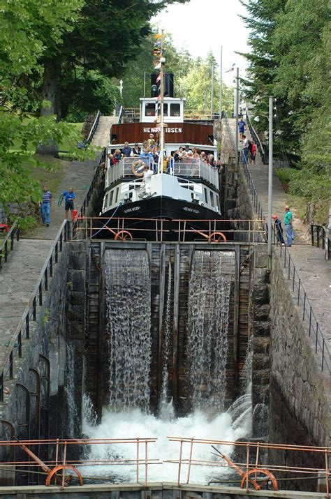
[[[212,50],[220,60],[223,45],[223,81],[233,84],[235,71],[226,73],[233,63],[244,72],[246,60],[235,54],[248,52],[249,31],[239,15],[245,14],[239,0],[191,0],[168,6],[154,18],[165,33],[170,33],[177,49],[185,48],[193,57],[205,58]]]

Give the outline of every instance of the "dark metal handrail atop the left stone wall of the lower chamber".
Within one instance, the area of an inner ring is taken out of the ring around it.
[[[14,378],[14,358],[22,357],[22,341],[23,338],[30,338],[30,321],[37,320],[37,306],[43,305],[43,292],[48,290],[48,278],[53,276],[54,264],[57,264],[59,253],[63,249],[63,243],[68,241],[68,223],[66,220],[62,222],[61,228],[55,237],[52,248],[47,255],[41,274],[38,279],[38,284],[32,292],[29,303],[27,304],[22,318],[18,323],[15,333],[13,334],[10,344],[8,345],[6,355],[0,364],[0,402],[3,402],[3,389],[6,375],[9,372],[10,380]]]

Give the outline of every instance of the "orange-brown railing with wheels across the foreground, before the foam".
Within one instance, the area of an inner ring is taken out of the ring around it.
[[[276,491],[279,489],[279,482],[284,479],[279,477],[279,474],[285,473],[288,475],[285,480],[289,479],[292,482],[300,480],[301,486],[303,479],[315,479],[316,482],[325,479],[325,497],[329,498],[330,467],[328,461],[331,452],[330,447],[183,437],[168,437],[168,441],[173,442],[173,445],[170,445],[173,449],[173,456],[176,456],[176,447],[179,444],[177,459],[162,460],[162,448],[158,449],[155,445],[157,438],[3,440],[0,442],[0,447],[9,447],[8,456],[10,458],[8,461],[0,462],[0,468],[6,472],[43,474],[47,486],[56,484],[61,486],[62,489],[68,486],[75,475],[79,479],[80,485],[84,484],[84,479],[94,479],[94,477],[115,484],[122,483],[121,473],[115,472],[114,468],[110,471],[111,477],[106,475],[107,472],[109,473],[106,467],[109,466],[126,466],[134,483],[144,484],[144,486],[152,484],[152,482],[149,482],[150,466],[161,465],[160,472],[157,475],[157,481],[160,482],[160,478],[163,477],[163,466],[169,470],[169,465],[177,465],[177,467],[172,466],[170,468],[170,476],[173,476],[170,483],[175,482],[177,475],[177,486],[192,483],[191,472],[193,467],[198,468],[198,482],[200,483],[209,480],[206,480],[207,473],[204,473],[203,479],[200,478],[203,470],[206,471],[208,468],[212,468],[214,472],[215,469],[219,469],[218,479],[212,479],[208,483],[227,484],[228,482],[240,482],[242,489],[247,491],[251,488],[256,490],[268,488],[268,484],[271,484],[272,489]],[[103,447],[100,448],[100,446]],[[124,451],[124,446],[130,452],[129,455]],[[131,446],[131,449],[128,446]],[[151,446],[152,450],[150,449]],[[17,447],[27,454],[26,460],[15,460]],[[97,452],[94,452],[95,447],[98,449]],[[47,461],[42,461],[38,456],[38,451],[41,448],[43,448],[44,452],[45,448],[47,448]],[[170,450],[170,456],[172,456],[172,449]],[[273,460],[281,458],[281,462],[286,462],[289,454],[300,453],[296,457],[297,462],[305,463],[309,456],[309,460],[318,463],[320,467],[316,468],[308,465],[288,466],[273,461],[266,463],[265,454],[270,450],[276,451],[278,454],[273,453],[276,456]],[[208,459],[208,451],[210,459]],[[125,457],[124,454],[126,454]],[[150,454],[158,456],[157,459],[149,458]],[[193,454],[198,454],[198,458],[194,457]],[[204,459],[201,459],[203,456]],[[233,458],[233,456],[236,457]],[[235,461],[235,459],[237,460]],[[238,461],[239,459],[241,461]],[[260,461],[263,461],[263,464]],[[184,466],[187,467],[185,475],[183,473]],[[100,467],[104,470],[103,474],[100,472]],[[222,470],[225,471],[223,475],[221,474]],[[229,470],[234,470],[237,473],[237,479],[228,480]],[[197,482],[193,483],[196,484]]]

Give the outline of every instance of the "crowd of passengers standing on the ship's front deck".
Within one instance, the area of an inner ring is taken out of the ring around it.
[[[147,160],[153,158],[154,170],[157,170],[157,165],[159,164],[160,147],[159,142],[154,139],[154,135],[151,133],[149,139],[142,143],[142,147],[139,144],[134,144],[131,147],[128,142],[124,143],[123,149],[115,149],[113,154],[108,154],[108,159],[110,166],[116,165],[122,158],[141,158],[142,160]],[[174,163],[179,163],[183,161],[184,163],[189,163],[190,159],[200,159],[212,168],[218,168],[220,165],[219,161],[214,159],[213,154],[207,154],[205,151],[193,147],[190,149],[188,145],[185,147],[179,147],[170,156],[164,156],[163,158],[163,172],[170,172],[173,168]],[[105,167],[105,166],[104,166]]]

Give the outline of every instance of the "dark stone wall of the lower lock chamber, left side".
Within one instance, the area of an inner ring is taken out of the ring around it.
[[[9,440],[13,434],[19,439],[61,438],[63,434],[67,269],[68,246],[64,244],[43,306],[37,308],[37,320],[30,322],[30,339],[23,341],[22,358],[14,359],[15,377],[5,380],[10,394],[0,404],[0,419],[12,424],[13,431],[10,425],[2,424],[1,440]],[[1,447],[0,459],[7,459],[8,453],[8,448]],[[43,453],[46,458],[47,450],[41,449],[42,459]],[[20,461],[20,457],[27,459],[24,452],[16,449],[15,458]],[[4,475],[1,472],[0,484],[3,479],[8,483]]]

